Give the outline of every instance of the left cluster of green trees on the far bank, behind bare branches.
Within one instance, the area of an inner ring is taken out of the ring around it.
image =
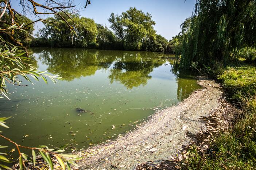
[[[65,16],[66,21],[58,15],[47,18],[43,22],[44,28],[39,29],[39,38],[50,41],[51,47],[88,47],[89,44],[96,44],[98,30],[94,20],[65,13],[68,15]],[[74,28],[74,32],[70,32],[66,22]]]

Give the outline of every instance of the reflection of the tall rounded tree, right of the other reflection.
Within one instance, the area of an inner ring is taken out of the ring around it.
[[[110,82],[119,81],[128,89],[140,85],[146,85],[151,79],[149,74],[154,68],[162,65],[165,60],[156,56],[156,53],[148,52],[124,52],[115,61],[110,70]]]

